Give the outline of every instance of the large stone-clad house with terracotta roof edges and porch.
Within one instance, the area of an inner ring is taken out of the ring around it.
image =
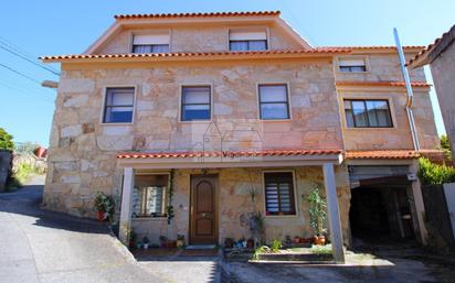
[[[100,191],[124,241],[133,227],[191,244],[248,238],[260,211],[271,242],[313,236],[320,187],[338,260],[352,237],[425,241],[430,85],[411,70],[416,151],[393,46],[314,47],[279,12],[121,14],[83,54],[42,59],[62,65],[47,209],[93,217]]]

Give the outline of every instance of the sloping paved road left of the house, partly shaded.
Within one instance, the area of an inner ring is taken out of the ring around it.
[[[97,222],[41,210],[44,178],[0,194],[1,283],[166,282]]]

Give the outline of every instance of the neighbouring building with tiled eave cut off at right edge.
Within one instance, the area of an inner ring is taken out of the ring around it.
[[[430,64],[445,130],[455,149],[455,25],[422,50],[410,62],[410,68],[421,68]],[[455,160],[455,151],[452,151]]]

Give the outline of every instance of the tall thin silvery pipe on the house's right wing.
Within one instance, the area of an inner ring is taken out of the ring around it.
[[[417,131],[415,129],[414,115],[412,113],[412,102],[413,102],[414,96],[412,92],[411,79],[408,73],[408,68],[405,66],[403,47],[401,46],[400,37],[399,37],[396,29],[393,29],[393,34],[395,36],[396,51],[400,57],[401,73],[403,75],[404,83],[406,84],[406,91],[408,91],[406,113],[408,113],[408,121],[409,121],[410,129],[411,129],[412,142],[414,144],[414,150],[420,151],[421,145],[419,143]]]

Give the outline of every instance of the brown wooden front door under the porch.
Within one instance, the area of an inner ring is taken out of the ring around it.
[[[218,176],[191,176],[190,243],[218,242]]]

